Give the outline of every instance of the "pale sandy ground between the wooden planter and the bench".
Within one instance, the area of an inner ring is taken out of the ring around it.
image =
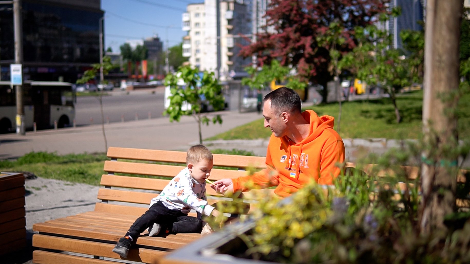
[[[31,264],[32,225],[60,217],[94,210],[98,186],[54,179],[26,179],[26,237],[28,246],[2,256],[2,264]]]

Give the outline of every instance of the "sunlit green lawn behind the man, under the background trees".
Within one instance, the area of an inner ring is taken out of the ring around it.
[[[397,99],[402,122],[397,124],[392,102],[389,98],[343,102],[340,135],[342,138],[386,138],[386,139],[418,139],[422,132],[423,92],[400,95]],[[338,103],[322,104],[308,107],[319,116],[335,117],[335,130],[338,129]],[[459,138],[470,136],[470,94],[462,96],[457,109],[459,116]],[[233,139],[266,139],[271,135],[264,128],[264,120],[236,127],[207,140]]]

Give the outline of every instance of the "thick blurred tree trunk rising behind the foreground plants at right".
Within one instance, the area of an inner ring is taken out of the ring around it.
[[[461,17],[462,0],[427,1],[423,132],[428,148],[422,166],[422,234],[446,230],[444,217],[455,208],[457,157],[450,155],[449,149],[458,144],[457,119],[452,109],[458,101]]]

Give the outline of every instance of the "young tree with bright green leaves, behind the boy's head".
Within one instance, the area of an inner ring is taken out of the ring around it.
[[[185,84],[184,88],[178,85],[180,82]],[[179,122],[181,116],[193,116],[198,125],[199,142],[202,144],[201,125],[209,125],[211,121],[207,115],[201,113],[203,103],[211,105],[216,111],[224,109],[225,105],[222,86],[214,73],[204,71],[201,76],[196,68],[184,66],[174,74],[168,74],[165,78],[165,85],[170,86],[172,95],[168,97],[170,106],[163,114],[170,117],[170,122],[175,120]],[[214,116],[212,123],[222,124],[220,115]]]

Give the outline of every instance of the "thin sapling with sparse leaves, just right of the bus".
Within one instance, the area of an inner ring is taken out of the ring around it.
[[[94,80],[96,76],[100,74],[100,68],[103,66],[103,75],[107,75],[110,70],[114,69],[116,66],[111,63],[111,58],[109,56],[104,56],[103,57],[103,64],[100,63],[94,63],[92,64],[92,69],[91,70],[86,70],[83,74],[83,77],[77,80],[78,84],[85,84],[89,82],[90,80]],[[104,80],[104,84],[107,84],[108,81]],[[106,140],[106,132],[104,131],[104,113],[103,113],[103,91],[104,89],[101,90],[100,93],[98,93],[97,99],[100,102],[100,110],[101,110],[101,127],[102,127],[102,132],[103,132],[103,138],[104,138],[104,151],[108,151],[108,140]]]

